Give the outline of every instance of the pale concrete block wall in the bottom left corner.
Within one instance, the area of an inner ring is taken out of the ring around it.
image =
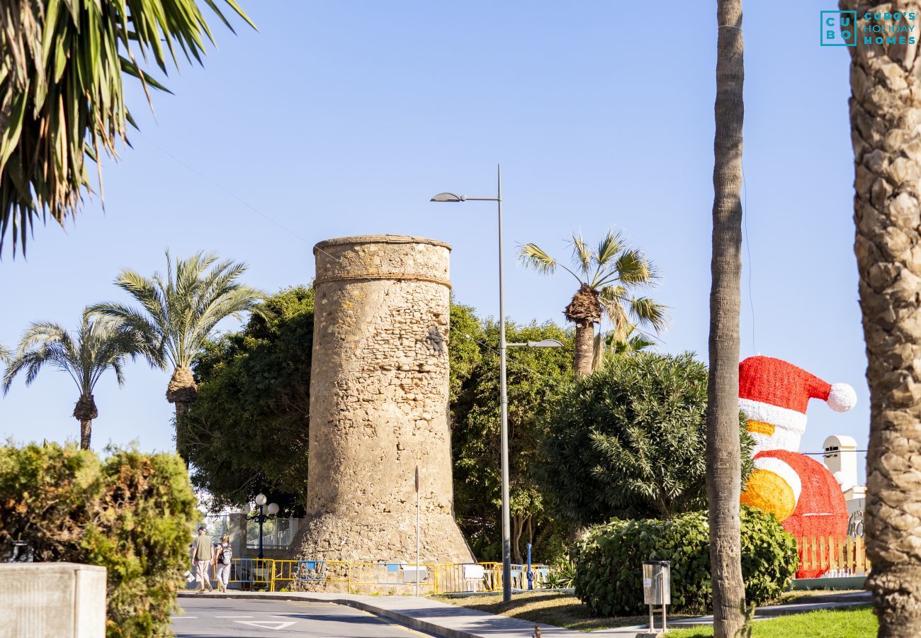
[[[0,637],[102,638],[106,568],[74,562],[0,563]]]

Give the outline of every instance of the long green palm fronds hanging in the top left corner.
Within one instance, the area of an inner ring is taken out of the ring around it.
[[[247,18],[234,0],[224,0]],[[164,89],[137,62],[166,72],[179,57],[201,62],[214,41],[195,0],[5,0],[0,3],[0,250],[13,250],[46,215],[62,225],[90,192],[87,158],[102,191],[101,154],[116,156],[134,124],[124,75]],[[216,0],[204,0],[228,28]],[[230,28],[232,30],[232,28]],[[177,55],[181,50],[181,55]]]

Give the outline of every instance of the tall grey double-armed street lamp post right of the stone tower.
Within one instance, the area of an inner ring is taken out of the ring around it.
[[[495,197],[467,197],[453,193],[439,193],[432,197],[433,202],[495,202],[498,209],[499,221],[499,407],[501,420],[499,431],[502,452],[502,599],[508,602],[512,599],[512,543],[511,543],[511,511],[508,504],[508,395],[506,388],[506,350],[509,346],[560,348],[563,344],[554,342],[558,346],[536,346],[532,344],[543,342],[529,342],[527,344],[506,343],[506,310],[505,295],[503,292],[502,276],[502,165],[496,167]],[[547,341],[551,341],[548,339]]]

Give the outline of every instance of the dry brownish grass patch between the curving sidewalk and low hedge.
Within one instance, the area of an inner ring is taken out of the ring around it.
[[[565,627],[579,632],[591,632],[611,627],[629,627],[645,624],[646,616],[619,616],[616,618],[593,617],[589,610],[575,596],[563,592],[530,592],[514,594],[507,605],[502,602],[502,594],[469,597],[437,597],[442,602],[479,609],[491,614],[501,614],[521,620],[543,622],[556,627]],[[671,618],[671,616],[670,616]],[[688,616],[675,616],[688,618]]]

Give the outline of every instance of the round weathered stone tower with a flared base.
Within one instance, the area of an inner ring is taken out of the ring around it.
[[[454,521],[448,423],[448,257],[402,235],[314,246],[307,516],[300,555],[469,562]]]

